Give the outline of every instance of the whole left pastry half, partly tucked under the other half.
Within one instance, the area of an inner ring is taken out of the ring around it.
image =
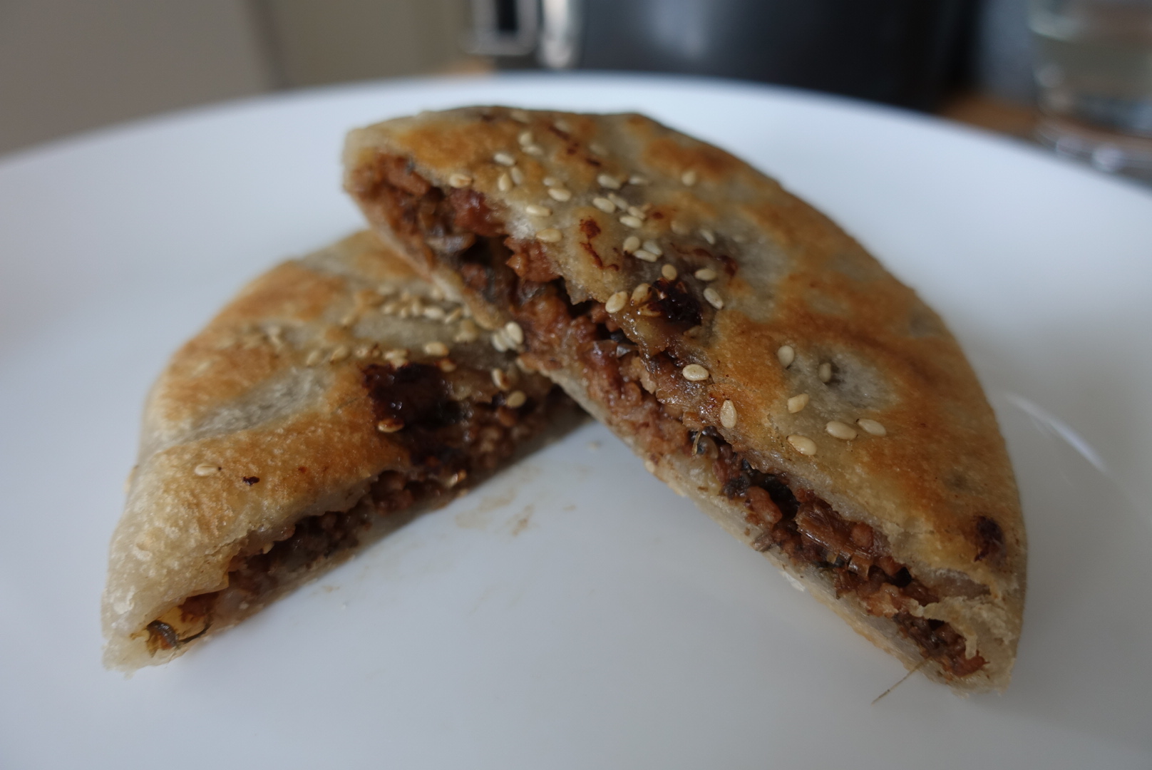
[[[149,398],[105,663],[162,663],[578,418],[371,233],[248,286]]]

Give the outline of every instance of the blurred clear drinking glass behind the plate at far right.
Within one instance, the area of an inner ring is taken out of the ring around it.
[[[1152,182],[1152,0],[1030,0],[1029,27],[1037,138]]]

